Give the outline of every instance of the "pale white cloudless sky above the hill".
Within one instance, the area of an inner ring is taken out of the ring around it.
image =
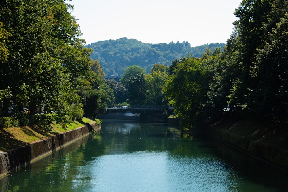
[[[109,39],[142,43],[225,43],[242,0],[72,0],[86,44]]]

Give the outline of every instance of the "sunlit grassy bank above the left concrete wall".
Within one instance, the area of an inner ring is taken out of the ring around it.
[[[93,118],[83,118],[81,122],[74,121],[71,124],[67,124],[68,128],[63,129],[59,125],[53,125],[52,133],[43,132],[37,126],[20,126],[20,127],[9,127],[3,128],[0,132],[0,151],[8,151],[10,149],[15,149],[20,146],[24,146],[27,143],[32,143],[37,140],[47,138],[51,135],[55,135],[61,132],[66,132],[69,130],[82,127],[87,123],[100,123],[98,119]]]

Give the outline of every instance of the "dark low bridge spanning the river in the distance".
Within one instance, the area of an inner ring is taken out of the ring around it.
[[[106,113],[167,113],[172,114],[174,108],[166,105],[130,105],[128,108],[111,107]]]

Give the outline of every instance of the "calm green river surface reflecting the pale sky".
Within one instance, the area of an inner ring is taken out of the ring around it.
[[[102,123],[0,178],[0,191],[287,191],[287,174],[211,138],[155,123]]]

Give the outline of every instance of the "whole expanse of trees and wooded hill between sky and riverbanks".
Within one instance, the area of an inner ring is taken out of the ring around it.
[[[62,0],[0,5],[1,127],[49,131],[52,122],[65,126],[119,103],[169,104],[187,129],[227,110],[287,123],[287,1],[243,0],[226,45],[203,45],[200,55],[188,42],[121,38],[85,46],[73,7]],[[123,74],[120,82],[103,80],[111,73]]]

